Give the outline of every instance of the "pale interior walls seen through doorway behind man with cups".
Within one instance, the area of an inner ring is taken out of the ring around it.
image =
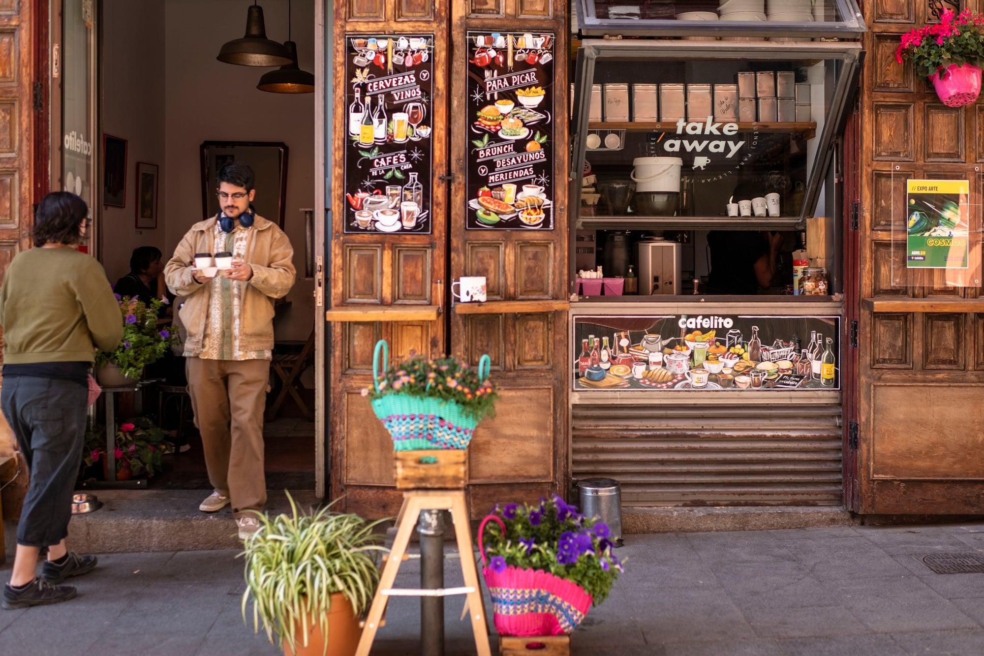
[[[248,3],[229,0],[104,0],[104,131],[130,140],[127,207],[106,208],[103,264],[113,280],[130,252],[155,245],[165,259],[202,208],[204,141],[275,141],[289,148],[284,230],[304,275],[300,208],[314,207],[314,95],[256,88],[269,68],[215,59],[222,43],[242,37]],[[287,3],[263,3],[267,36],[287,38]],[[293,0],[291,38],[302,69],[314,72],[314,0]],[[144,143],[153,146],[143,146]],[[148,150],[141,150],[147,148]],[[154,150],[155,149],[155,150]],[[134,229],[137,162],[160,164],[157,230]],[[276,221],[276,217],[267,217]],[[313,325],[312,281],[299,279],[278,315],[277,339],[306,339]]]

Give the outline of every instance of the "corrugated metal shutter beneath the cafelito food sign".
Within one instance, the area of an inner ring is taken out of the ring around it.
[[[625,505],[840,505],[839,406],[575,405],[575,479]]]

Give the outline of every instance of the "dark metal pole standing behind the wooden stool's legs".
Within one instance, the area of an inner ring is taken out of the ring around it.
[[[444,587],[444,512],[424,510],[417,522],[420,534],[420,587]],[[420,598],[420,653],[444,656],[444,597]]]

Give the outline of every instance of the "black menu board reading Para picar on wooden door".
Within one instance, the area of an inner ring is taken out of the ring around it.
[[[469,230],[553,230],[552,33],[469,32]]]

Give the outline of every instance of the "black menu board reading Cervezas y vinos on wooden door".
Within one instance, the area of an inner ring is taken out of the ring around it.
[[[433,34],[345,36],[345,232],[431,231]]]

